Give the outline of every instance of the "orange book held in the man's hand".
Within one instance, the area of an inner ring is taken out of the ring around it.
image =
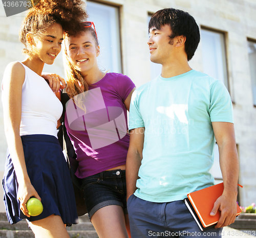
[[[212,217],[210,212],[214,208],[214,203],[222,195],[224,190],[223,183],[219,183],[195,192],[187,194],[184,202],[190,213],[196,220],[199,228],[205,229],[214,227],[220,219],[221,211],[218,210],[216,215]],[[237,216],[241,213],[241,209],[237,204]]]

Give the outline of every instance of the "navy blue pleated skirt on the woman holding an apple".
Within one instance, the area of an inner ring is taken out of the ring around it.
[[[41,198],[44,210],[36,217],[26,217],[19,209],[18,183],[10,154],[7,152],[2,181],[7,218],[11,224],[22,219],[30,222],[49,215],[60,215],[64,224],[78,223],[74,189],[68,165],[57,138],[49,135],[22,136],[28,175]]]

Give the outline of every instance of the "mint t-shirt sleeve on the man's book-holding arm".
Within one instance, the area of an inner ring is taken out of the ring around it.
[[[209,115],[211,122],[233,123],[233,107],[230,95],[221,81],[216,81],[210,88]]]

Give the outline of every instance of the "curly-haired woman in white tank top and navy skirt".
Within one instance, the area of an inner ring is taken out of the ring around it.
[[[80,0],[41,0],[28,10],[19,33],[27,57],[9,63],[4,73],[4,202],[9,222],[27,219],[35,237],[69,238],[65,225],[77,223],[70,172],[57,140],[62,105],[41,73],[60,52],[63,30],[75,32],[87,17],[83,9]],[[35,217],[26,207],[31,197],[44,207]]]

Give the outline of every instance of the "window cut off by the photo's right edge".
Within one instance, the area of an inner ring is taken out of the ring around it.
[[[256,41],[248,40],[248,54],[250,63],[253,104],[254,106],[256,106]]]

